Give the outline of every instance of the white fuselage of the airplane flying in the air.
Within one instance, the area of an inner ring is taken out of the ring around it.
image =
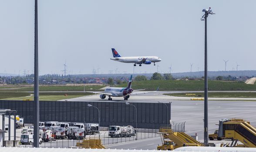
[[[123,62],[123,63],[136,63],[141,64],[141,60],[145,59],[152,63],[160,62],[161,59],[158,56],[128,56],[128,57],[112,57],[111,60]]]

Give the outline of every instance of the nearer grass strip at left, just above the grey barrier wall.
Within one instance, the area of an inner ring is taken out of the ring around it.
[[[0,93],[1,95],[2,93]],[[64,96],[67,94],[67,96]],[[81,96],[89,96],[94,93],[39,93],[39,100],[61,100],[61,99],[71,99]],[[4,93],[5,96],[1,96],[0,99],[2,100],[23,100],[23,99],[31,99],[34,100],[34,96],[30,96],[30,93]],[[29,96],[29,97],[25,97]]]

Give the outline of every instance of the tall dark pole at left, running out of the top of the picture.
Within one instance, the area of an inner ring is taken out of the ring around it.
[[[38,30],[37,0],[35,0],[35,31],[34,31],[34,147],[39,147],[39,82],[38,82]]]

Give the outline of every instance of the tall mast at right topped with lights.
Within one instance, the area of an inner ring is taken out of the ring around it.
[[[208,144],[208,74],[207,74],[207,16],[205,11],[205,99],[204,99],[204,143]]]

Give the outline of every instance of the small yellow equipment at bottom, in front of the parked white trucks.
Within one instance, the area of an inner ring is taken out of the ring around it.
[[[85,149],[106,149],[101,144],[101,139],[85,139],[82,142],[77,142],[77,147],[83,147]]]

